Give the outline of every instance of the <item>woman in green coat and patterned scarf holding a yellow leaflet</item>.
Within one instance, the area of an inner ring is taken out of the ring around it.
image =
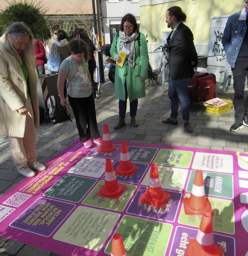
[[[148,69],[148,49],[145,35],[132,14],[126,14],[120,25],[120,31],[114,37],[110,54],[116,62],[121,62],[120,51],[125,47],[129,55],[123,67],[115,67],[115,95],[119,98],[119,121],[114,129],[125,126],[127,97],[130,102],[131,125],[138,126],[135,120],[138,99],[146,96],[145,80]]]

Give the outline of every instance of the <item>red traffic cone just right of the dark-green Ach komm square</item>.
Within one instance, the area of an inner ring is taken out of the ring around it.
[[[117,182],[112,162],[107,158],[105,163],[105,184],[97,195],[118,199],[126,187],[126,185]]]

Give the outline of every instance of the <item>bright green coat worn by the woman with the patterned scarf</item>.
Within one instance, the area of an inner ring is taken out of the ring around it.
[[[115,35],[110,48],[110,54],[114,60],[120,53],[119,43],[121,40],[119,35],[117,35],[118,34]],[[138,40],[135,41],[134,67],[129,66],[127,60],[123,67],[115,67],[115,95],[119,99],[124,101],[126,100],[124,87],[125,82],[127,84],[129,102],[146,96],[145,82],[141,82],[141,77],[147,77],[148,61],[146,38],[143,33],[140,33],[140,45],[138,44]]]

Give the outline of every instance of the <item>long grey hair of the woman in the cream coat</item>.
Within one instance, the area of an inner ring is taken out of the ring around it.
[[[20,64],[22,63],[23,60],[25,63],[29,63],[34,66],[34,46],[33,34],[31,29],[26,24],[24,24],[24,22],[15,22],[7,28],[4,34],[6,39],[5,49],[7,50],[7,52],[14,54],[17,57]],[[15,48],[13,47],[12,43],[10,43],[10,41],[8,40],[8,35],[10,35],[11,38],[14,40],[19,35],[29,36],[29,45],[27,45],[24,48],[20,55],[15,51]]]

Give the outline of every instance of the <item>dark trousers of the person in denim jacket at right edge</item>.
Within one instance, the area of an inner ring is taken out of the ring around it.
[[[248,97],[244,99],[245,78],[248,79],[248,61],[236,61],[233,74],[233,107],[235,123],[243,123],[244,115],[248,114]]]

